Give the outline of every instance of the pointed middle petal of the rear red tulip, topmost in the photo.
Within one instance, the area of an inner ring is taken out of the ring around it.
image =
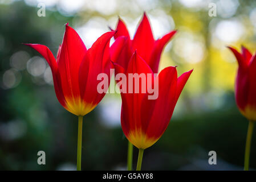
[[[132,41],[133,50],[137,49],[137,53],[149,63],[151,60],[151,53],[155,45],[151,26],[147,15],[144,13],[143,19]]]

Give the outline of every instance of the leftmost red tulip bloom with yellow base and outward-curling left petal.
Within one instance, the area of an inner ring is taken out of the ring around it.
[[[114,34],[113,31],[103,34],[87,50],[77,32],[66,24],[56,60],[48,47],[26,44],[38,51],[50,65],[56,96],[60,104],[71,113],[86,115],[104,97],[105,93],[97,92],[97,84],[100,82],[97,75],[106,73],[110,78],[112,64],[109,41]]]

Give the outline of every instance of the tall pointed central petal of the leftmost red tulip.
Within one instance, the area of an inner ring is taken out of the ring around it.
[[[59,53],[58,67],[66,100],[80,98],[78,72],[86,55],[86,46],[78,33],[66,24],[66,31]]]

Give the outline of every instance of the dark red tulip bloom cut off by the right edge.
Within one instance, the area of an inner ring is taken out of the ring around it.
[[[235,80],[235,100],[241,113],[250,121],[256,121],[256,55],[242,47],[239,53],[229,47],[238,62],[237,78]]]

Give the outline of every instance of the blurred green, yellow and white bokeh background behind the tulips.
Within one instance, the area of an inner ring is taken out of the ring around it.
[[[39,3],[46,16],[39,17]],[[217,16],[209,16],[215,3]],[[160,71],[194,68],[168,129],[144,152],[143,169],[237,170],[243,168],[248,122],[234,100],[237,63],[226,46],[256,49],[256,1],[205,0],[0,0],[0,169],[76,169],[78,119],[56,99],[46,61],[22,43],[40,43],[56,55],[64,24],[87,48],[118,15],[131,36],[146,11],[155,38],[178,30],[162,53]],[[121,99],[107,94],[83,125],[82,169],[125,169],[127,139],[120,127]],[[46,152],[46,165],[37,152]],[[217,165],[208,152],[217,152]],[[136,166],[137,149],[133,166]],[[250,167],[256,168],[256,134]]]

